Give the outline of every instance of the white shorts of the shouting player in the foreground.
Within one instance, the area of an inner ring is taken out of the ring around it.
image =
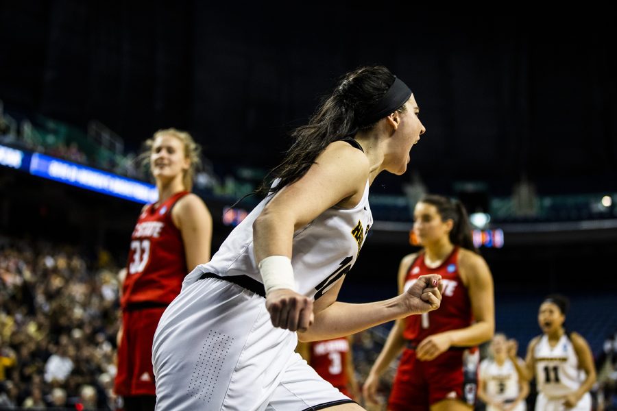
[[[295,332],[272,326],[263,297],[221,279],[185,280],[154,335],[156,410],[302,411],[353,402],[293,351],[297,342]]]

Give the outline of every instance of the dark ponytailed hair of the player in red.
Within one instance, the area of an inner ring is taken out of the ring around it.
[[[418,202],[435,206],[437,212],[441,216],[441,220],[452,220],[454,223],[452,225],[452,230],[450,230],[450,242],[452,242],[452,244],[478,253],[478,249],[474,246],[474,240],[472,238],[472,227],[469,223],[469,216],[461,201],[457,199],[450,200],[448,197],[441,195],[428,194],[424,195]]]

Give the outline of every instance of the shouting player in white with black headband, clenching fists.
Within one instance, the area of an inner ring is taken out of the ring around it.
[[[154,336],[156,410],[362,410],[294,352],[439,307],[439,275],[386,301],[336,301],[373,223],[368,188],[424,133],[383,66],[345,75],[274,170],[269,194],[186,276]],[[296,334],[298,331],[298,334]]]

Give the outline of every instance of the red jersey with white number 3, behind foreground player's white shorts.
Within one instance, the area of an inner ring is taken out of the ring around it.
[[[311,366],[333,386],[345,388],[348,384],[345,366],[349,350],[349,341],[345,337],[315,341],[311,343]]]

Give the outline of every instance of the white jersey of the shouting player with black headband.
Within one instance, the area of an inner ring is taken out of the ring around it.
[[[276,184],[277,181],[274,182]],[[273,186],[274,186],[273,184]],[[276,195],[276,194],[275,194]],[[373,224],[368,202],[369,183],[357,206],[330,208],[293,234],[291,265],[296,290],[318,299],[346,275],[356,262],[360,248]],[[197,266],[199,273],[247,275],[263,282],[253,253],[253,222],[273,195],[269,195],[233,229],[219,251],[207,264]],[[198,275],[185,279],[185,284]]]

